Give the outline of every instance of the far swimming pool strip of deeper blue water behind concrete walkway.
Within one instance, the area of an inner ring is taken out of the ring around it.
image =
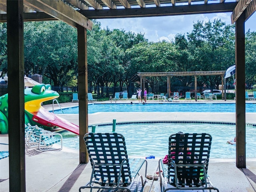
[[[63,109],[64,114],[78,114],[78,107]],[[236,112],[234,103],[164,103],[164,104],[89,104],[88,114],[96,112]],[[256,112],[256,103],[247,103],[246,112]],[[55,114],[62,114],[54,110]]]

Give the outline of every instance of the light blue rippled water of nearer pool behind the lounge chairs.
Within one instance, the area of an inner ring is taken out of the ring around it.
[[[234,139],[236,126],[228,124],[123,124],[116,125],[116,132],[123,134],[128,155],[146,157],[150,154],[164,158],[168,154],[168,139],[178,131],[189,133],[206,132],[212,135],[211,158],[236,158],[236,146],[226,144]],[[255,157],[256,127],[246,126],[246,157]],[[91,132],[91,128],[89,128]],[[96,132],[112,132],[112,126],[97,126]],[[63,145],[79,149],[79,136],[63,132]]]

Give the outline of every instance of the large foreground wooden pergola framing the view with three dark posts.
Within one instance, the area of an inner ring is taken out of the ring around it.
[[[88,156],[83,136],[88,132],[87,39],[90,19],[173,16],[232,12],[236,25],[236,166],[246,168],[245,26],[256,10],[255,0],[0,0],[0,22],[7,22],[8,121],[10,188],[26,191],[24,144],[24,21],[61,20],[78,32],[80,163]]]

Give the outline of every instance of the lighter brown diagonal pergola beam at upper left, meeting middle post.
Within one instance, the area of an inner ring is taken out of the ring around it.
[[[92,29],[92,21],[85,16],[81,16],[79,12],[62,1],[24,0],[24,4],[32,9],[37,8],[38,10],[41,10],[58,20],[62,20],[73,27],[77,27],[77,24],[79,24],[86,29]]]

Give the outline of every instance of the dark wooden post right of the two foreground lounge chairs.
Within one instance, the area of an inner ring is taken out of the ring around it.
[[[236,20],[236,166],[246,168],[245,13]]]

